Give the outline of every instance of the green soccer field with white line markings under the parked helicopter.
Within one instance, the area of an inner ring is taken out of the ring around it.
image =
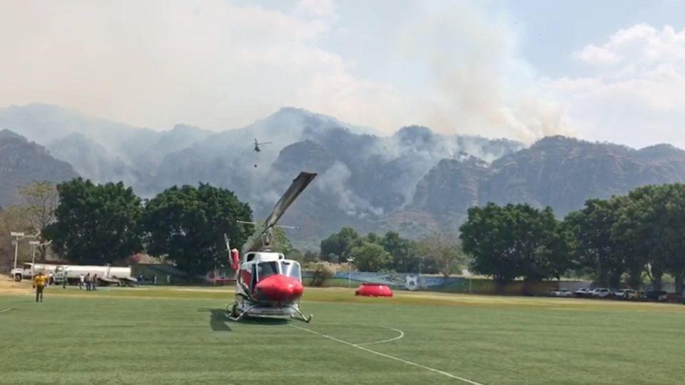
[[[685,306],[305,290],[310,324],[227,321],[232,289],[0,293],[0,384],[674,384]]]

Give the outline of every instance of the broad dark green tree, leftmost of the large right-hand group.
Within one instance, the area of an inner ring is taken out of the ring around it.
[[[488,203],[468,210],[460,238],[472,270],[492,276],[501,289],[516,277],[532,282],[558,274],[551,256],[564,248],[559,226],[550,207]]]

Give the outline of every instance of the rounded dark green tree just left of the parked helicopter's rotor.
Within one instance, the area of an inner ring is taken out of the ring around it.
[[[253,230],[252,210],[229,190],[201,183],[198,188],[173,186],[153,197],[141,221],[148,253],[167,255],[176,266],[196,277],[226,255],[223,234],[240,247]],[[286,238],[287,239],[287,238]]]

